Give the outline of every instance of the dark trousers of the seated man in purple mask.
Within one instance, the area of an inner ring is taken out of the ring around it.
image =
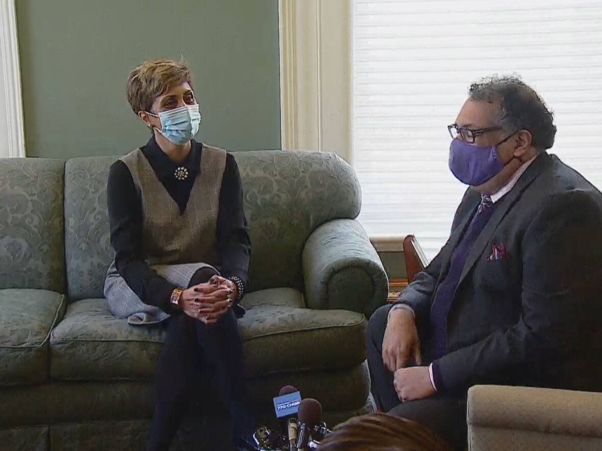
[[[366,332],[370,391],[377,407],[383,412],[421,423],[456,449],[466,449],[465,396],[436,394],[427,399],[400,402],[393,384],[393,373],[386,369],[382,361],[382,340],[390,308],[390,305],[378,308],[371,316]]]

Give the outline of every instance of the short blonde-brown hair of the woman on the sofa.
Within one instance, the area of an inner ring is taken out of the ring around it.
[[[172,87],[188,82],[193,88],[190,69],[184,63],[173,60],[148,60],[129,73],[126,93],[134,110],[151,111],[155,99]],[[193,88],[194,90],[194,88]]]

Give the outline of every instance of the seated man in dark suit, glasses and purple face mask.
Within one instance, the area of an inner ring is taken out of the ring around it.
[[[470,186],[367,346],[378,407],[464,448],[471,385],[602,390],[602,194],[546,152],[553,115],[520,79],[471,85],[448,128]]]

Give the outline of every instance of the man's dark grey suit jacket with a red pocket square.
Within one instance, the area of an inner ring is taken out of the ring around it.
[[[398,300],[414,309],[423,343],[434,293],[479,202],[469,188],[447,243]],[[602,391],[602,194],[544,152],[498,203],[448,311],[445,388]],[[494,245],[503,259],[489,259]]]

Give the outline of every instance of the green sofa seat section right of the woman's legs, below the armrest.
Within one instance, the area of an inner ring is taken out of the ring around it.
[[[247,314],[238,324],[250,377],[343,369],[365,360],[363,314],[305,308],[301,293],[293,289],[261,290],[248,298],[243,303]]]

